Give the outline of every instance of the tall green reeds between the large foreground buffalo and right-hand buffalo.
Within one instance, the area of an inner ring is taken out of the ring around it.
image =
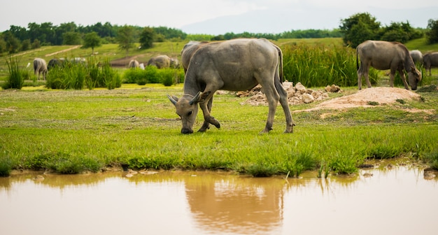
[[[323,44],[288,44],[283,46],[285,79],[306,87],[358,85],[356,53],[352,48]],[[378,72],[369,71],[369,79],[376,84]]]

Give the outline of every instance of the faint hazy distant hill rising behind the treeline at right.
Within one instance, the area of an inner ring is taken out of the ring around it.
[[[349,12],[343,8],[296,8],[296,9],[266,9],[253,10],[241,15],[217,17],[203,22],[188,24],[181,27],[188,34],[225,34],[233,32],[279,34],[297,29],[337,29],[342,19],[356,13],[368,12],[381,22],[382,26],[391,22],[409,21],[412,27],[425,29],[428,20],[438,19],[438,7],[411,9],[365,8],[357,12]],[[431,15],[433,17],[431,17]],[[434,18],[435,17],[435,18]]]

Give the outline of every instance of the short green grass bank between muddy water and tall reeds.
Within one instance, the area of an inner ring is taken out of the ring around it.
[[[345,93],[355,89],[347,87]],[[216,95],[212,115],[221,129],[183,135],[166,97],[181,96],[181,90],[182,85],[151,84],[0,91],[0,169],[81,173],[127,164],[133,169],[222,169],[253,176],[318,171],[323,176],[355,173],[367,159],[409,157],[431,166],[437,161],[436,110],[404,110],[435,109],[436,92],[421,93],[423,101],[408,101],[402,108],[292,113],[294,134],[283,134],[285,118],[278,108],[274,130],[263,135],[267,106],[241,105],[245,98]],[[201,124],[199,113],[195,129]]]

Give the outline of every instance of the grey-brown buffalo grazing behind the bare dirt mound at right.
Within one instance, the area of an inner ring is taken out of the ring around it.
[[[394,87],[395,71],[398,71],[403,80],[404,88],[409,90],[404,71],[408,72],[409,85],[412,90],[417,90],[417,83],[421,80],[421,73],[416,69],[409,51],[402,43],[388,41],[365,41],[356,48],[356,66],[358,68],[358,86],[362,89],[362,76],[365,76],[367,86],[369,83],[369,66],[374,69],[390,69],[390,87]],[[360,66],[358,57],[360,57]]]

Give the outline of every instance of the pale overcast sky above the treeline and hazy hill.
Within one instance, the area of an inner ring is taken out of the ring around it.
[[[397,2],[397,5],[394,4]],[[10,28],[10,25],[27,28],[29,22],[41,24],[43,22],[52,22],[59,25],[67,22],[75,22],[83,26],[101,22],[110,22],[118,25],[136,25],[140,27],[170,27],[184,29],[184,27],[197,22],[204,22],[218,17],[228,15],[243,15],[251,12],[273,13],[281,10],[282,14],[293,15],[295,13],[304,13],[311,18],[318,18],[319,12],[312,14],[311,9],[326,9],[327,14],[332,17],[320,20],[309,21],[304,24],[306,19],[302,18],[300,22],[290,22],[290,29],[334,29],[339,27],[339,21],[355,13],[369,12],[375,16],[372,9],[388,9],[391,14],[397,15],[398,9],[420,9],[438,7],[438,1],[435,0],[8,0],[0,4],[0,31]],[[407,11],[404,11],[407,12]],[[429,15],[428,15],[429,14]],[[263,19],[264,15],[260,15]],[[438,20],[438,12],[424,13],[425,19]],[[400,22],[399,19],[409,20],[414,27],[427,26],[427,20],[424,22],[415,22],[413,15],[397,15],[394,20],[379,19],[383,24],[389,24],[386,21]],[[389,18],[390,19],[390,18]],[[414,23],[413,23],[414,22]],[[283,22],[285,24],[287,22]],[[416,25],[421,24],[421,25]],[[300,25],[302,27],[300,27]],[[232,27],[230,27],[232,28]],[[278,28],[283,30],[284,28]],[[188,32],[190,34],[202,34],[202,29],[193,29],[197,31]],[[237,30],[237,29],[236,29]],[[263,33],[281,33],[283,31],[265,31],[265,28],[257,30],[257,23],[252,27],[250,32]],[[205,33],[211,34],[214,29],[206,29]],[[216,34],[222,34],[222,31]],[[239,33],[239,32],[235,32]]]

